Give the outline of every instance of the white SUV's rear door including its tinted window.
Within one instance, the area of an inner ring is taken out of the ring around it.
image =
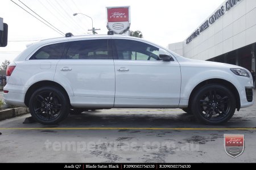
[[[55,80],[70,86],[74,107],[113,107],[115,76],[108,39],[68,42]]]

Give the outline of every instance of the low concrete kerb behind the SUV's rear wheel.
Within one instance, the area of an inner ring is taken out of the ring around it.
[[[0,111],[0,121],[5,120],[7,118],[13,118],[16,116],[21,116],[23,114],[30,113],[28,108],[9,108],[9,109],[3,109]]]

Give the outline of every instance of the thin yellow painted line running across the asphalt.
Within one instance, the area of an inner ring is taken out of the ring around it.
[[[256,130],[256,128],[0,128],[0,130]]]

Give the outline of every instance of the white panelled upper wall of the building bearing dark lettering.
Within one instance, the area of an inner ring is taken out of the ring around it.
[[[226,1],[222,5],[225,6]],[[184,57],[207,60],[256,42],[256,0],[241,0],[224,12],[189,44],[183,41]],[[169,44],[169,49],[175,44]]]

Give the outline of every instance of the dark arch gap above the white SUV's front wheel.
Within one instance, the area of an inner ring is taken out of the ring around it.
[[[237,108],[237,111],[239,111],[240,108],[241,108],[239,92],[237,91],[237,88],[234,86],[234,84],[232,84],[229,81],[224,80],[224,79],[208,79],[208,80],[204,80],[203,82],[200,82],[199,84],[197,84],[197,86],[195,88],[193,88],[191,94],[189,95],[188,106],[191,104],[192,97],[193,97],[193,95],[195,94],[195,92],[199,88],[205,86],[206,84],[213,84],[213,83],[225,86],[230,91],[232,91],[232,93],[236,97],[236,108]]]

